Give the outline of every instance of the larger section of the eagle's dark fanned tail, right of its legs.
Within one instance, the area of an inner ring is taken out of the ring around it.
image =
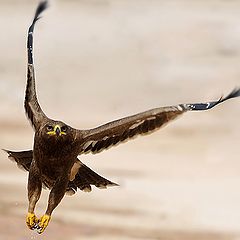
[[[82,164],[75,176],[75,179],[69,182],[66,193],[72,195],[77,191],[77,188],[84,192],[91,192],[91,185],[95,185],[99,189],[106,189],[107,187],[111,186],[119,186],[118,184],[98,175],[85,164]]]

